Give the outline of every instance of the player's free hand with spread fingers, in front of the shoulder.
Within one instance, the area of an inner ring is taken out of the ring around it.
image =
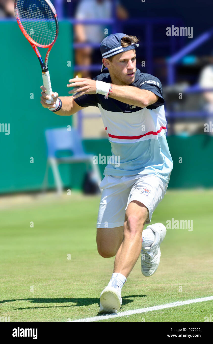
[[[96,81],[86,78],[79,78],[77,75],[74,79],[70,79],[67,87],[74,87],[69,94],[76,93],[73,99],[83,96],[83,94],[95,94],[96,93]]]

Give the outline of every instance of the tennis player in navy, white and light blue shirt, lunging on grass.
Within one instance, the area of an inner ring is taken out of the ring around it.
[[[53,94],[41,86],[41,104],[60,116],[70,116],[87,106],[102,115],[111,143],[112,158],[100,184],[103,189],[97,219],[97,249],[115,257],[114,272],[100,294],[100,313],[117,313],[121,289],[141,252],[141,272],[152,276],[160,262],[160,244],[166,235],[161,223],[147,226],[164,197],[173,168],[166,140],[166,118],[160,80],[136,68],[138,39],[111,34],[100,44],[103,67],[94,79],[69,80],[73,96]],[[102,72],[101,70],[101,72]],[[118,162],[119,164],[116,163]]]

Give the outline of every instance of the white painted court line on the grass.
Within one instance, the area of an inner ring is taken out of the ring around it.
[[[177,306],[183,306],[185,304],[210,301],[210,300],[213,300],[213,296],[209,296],[206,298],[199,298],[199,299],[191,299],[191,300],[186,300],[186,301],[166,303],[166,304],[161,304],[159,306],[153,306],[153,307],[147,307],[147,308],[139,308],[139,309],[134,309],[132,311],[120,312],[117,314],[93,316],[92,318],[83,318],[83,319],[73,320],[72,322],[79,322],[79,321],[88,322],[88,321],[98,321],[98,320],[105,320],[105,319],[111,319],[111,318],[119,318],[120,316],[139,314],[139,313],[145,313],[145,312],[150,312],[150,311],[158,311],[160,309],[172,308],[172,307],[177,307]]]

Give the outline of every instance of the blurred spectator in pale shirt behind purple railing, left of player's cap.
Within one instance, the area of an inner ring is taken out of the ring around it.
[[[82,19],[110,19],[113,15],[113,2],[111,0],[81,0],[77,6],[75,18]],[[116,15],[118,19],[127,19],[128,12],[121,6],[120,1],[116,1]],[[106,35],[104,25],[75,25],[75,39],[77,43],[100,43]],[[93,49],[85,47],[76,49],[75,58],[77,65],[89,66],[92,63]],[[101,57],[101,55],[100,55]],[[82,71],[79,77],[90,77],[89,71]]]

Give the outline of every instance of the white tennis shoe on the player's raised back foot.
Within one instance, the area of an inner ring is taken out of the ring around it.
[[[143,276],[149,277],[155,273],[160,263],[160,244],[166,236],[167,229],[162,223],[155,223],[147,228],[155,232],[154,243],[141,249],[141,272]]]

